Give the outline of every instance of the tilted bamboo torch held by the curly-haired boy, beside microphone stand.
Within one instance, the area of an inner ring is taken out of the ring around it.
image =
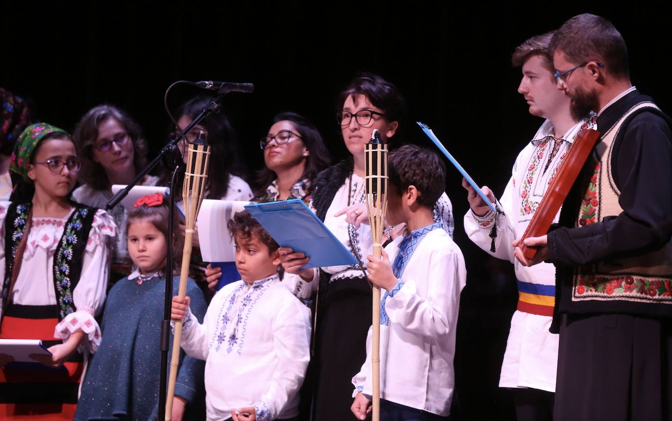
[[[205,193],[206,179],[208,179],[208,162],[210,161],[210,146],[206,142],[201,130],[198,138],[189,145],[187,157],[187,169],[184,175],[182,199],[184,203],[185,233],[184,251],[182,254],[182,266],[179,274],[179,291],[177,295],[183,298],[187,292],[187,277],[189,276],[189,263],[192,259],[192,241],[194,238],[194,226],[196,216],[201,207]],[[173,397],[175,396],[175,380],[177,380],[177,365],[179,363],[179,341],[182,336],[182,321],[175,322],[175,334],[173,336],[173,353],[170,361],[170,377],[168,380],[168,395],[166,397],[165,419],[170,421],[173,412]]]

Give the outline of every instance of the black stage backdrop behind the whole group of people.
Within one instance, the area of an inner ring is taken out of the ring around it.
[[[627,9],[573,4],[3,4],[0,86],[27,99],[36,120],[66,130],[99,103],[118,105],[144,128],[153,154],[171,130],[163,110],[170,83],[254,83],[253,94],[235,93],[224,101],[252,173],[263,165],[258,140],[278,111],[306,115],[333,159],[345,156],[335,97],[358,71],[373,71],[403,91],[411,118],[429,124],[478,183],[501,193],[515,156],[542,123],[516,92],[520,71],[511,66],[510,54],[523,40],[575,14],[612,19],[628,43],[632,82],[670,112],[672,31],[662,9],[650,3]],[[169,102],[176,106],[197,93],[177,87]],[[407,140],[429,146],[420,130],[407,128]],[[468,270],[454,419],[512,419],[510,397],[497,389],[517,296],[512,265],[489,258],[466,238],[465,192],[457,171],[448,170],[455,240]]]

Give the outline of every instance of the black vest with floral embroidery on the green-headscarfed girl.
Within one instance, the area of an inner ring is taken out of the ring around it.
[[[73,291],[79,282],[83,256],[93,225],[95,207],[73,203],[75,210],[65,223],[63,234],[54,252],[54,291],[58,320],[77,310],[73,300]],[[11,203],[5,218],[5,279],[3,280],[2,308],[7,308],[7,293],[11,283],[14,256],[19,242],[24,236],[28,213],[32,203]]]

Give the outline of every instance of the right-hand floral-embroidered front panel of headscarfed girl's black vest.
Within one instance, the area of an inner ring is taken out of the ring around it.
[[[73,286],[68,275],[70,275],[70,265],[73,260],[73,247],[77,244],[78,234],[80,234],[83,226],[82,220],[86,218],[88,213],[89,209],[87,208],[75,209],[73,217],[65,227],[65,232],[60,240],[60,249],[54,256],[54,285],[61,319],[75,311]],[[79,227],[79,230],[75,227]]]

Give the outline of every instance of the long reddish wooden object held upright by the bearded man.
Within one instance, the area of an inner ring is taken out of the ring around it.
[[[526,238],[544,236],[548,233],[548,228],[553,224],[560,206],[569,194],[569,189],[577,180],[579,172],[581,172],[590,152],[595,147],[598,138],[599,132],[592,129],[583,129],[577,134],[574,143],[567,152],[567,156],[564,157],[553,181],[548,186],[544,198],[534,212],[532,221],[530,221],[528,229],[525,230],[521,242]],[[528,247],[525,244],[521,246],[521,249],[523,256],[526,256],[527,259],[533,259],[537,253],[537,248]]]

